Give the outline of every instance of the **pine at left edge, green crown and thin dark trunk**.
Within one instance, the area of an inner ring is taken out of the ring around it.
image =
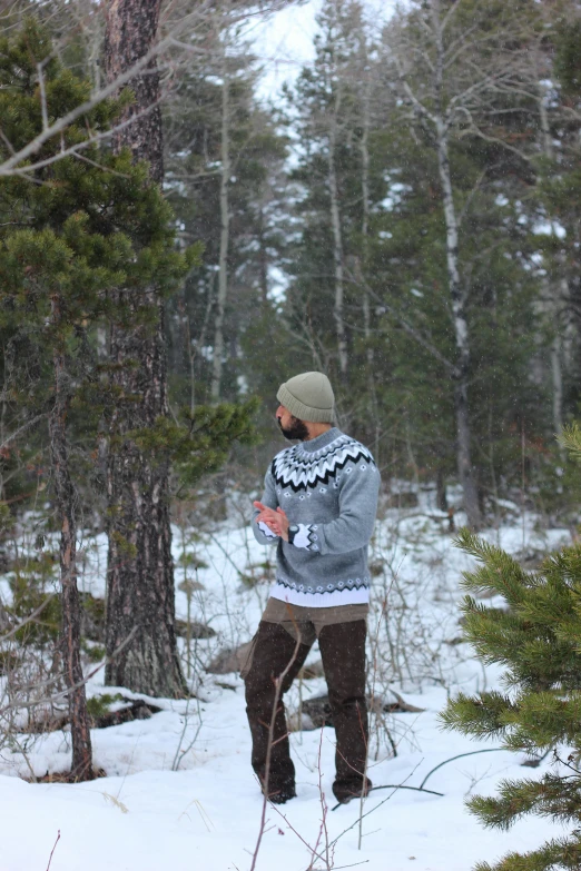
[[[43,117],[61,117],[87,100],[90,83],[51,57],[41,28],[29,19],[0,47],[1,156],[22,148],[43,129]],[[127,101],[127,96],[124,98]],[[105,101],[42,148],[33,177],[2,179],[0,231],[3,327],[14,356],[28,348],[37,360],[32,376],[48,389],[49,453],[60,528],[61,644],[72,728],[72,776],[92,776],[89,721],[80,661],[80,606],[77,590],[79,499],[70,437],[71,417],[85,418],[85,434],[97,438],[97,415],[106,416],[114,395],[102,384],[95,330],[108,319],[124,320],[111,306],[121,284],[156,279],[171,289],[188,268],[169,226],[170,212],[155,187],[144,184],[147,168],[132,166],[128,151],[115,157],[99,138],[111,129],[124,101]],[[61,157],[82,142],[79,154]],[[140,313],[147,324],[147,306]],[[17,360],[14,365],[18,366]],[[31,375],[29,370],[29,375]],[[42,409],[42,407],[41,407]]]

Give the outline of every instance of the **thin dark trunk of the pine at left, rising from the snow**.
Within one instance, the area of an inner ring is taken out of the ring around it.
[[[52,298],[52,324],[60,324],[60,299]],[[69,469],[67,413],[70,396],[67,387],[66,360],[58,348],[52,356],[55,372],[55,402],[49,416],[50,458],[60,519],[60,583],[61,583],[61,655],[65,682],[68,687],[69,717],[72,743],[71,778],[75,781],[93,780],[91,732],[87,712],[87,695],[80,656],[80,602],[77,588],[77,524],[75,488]]]

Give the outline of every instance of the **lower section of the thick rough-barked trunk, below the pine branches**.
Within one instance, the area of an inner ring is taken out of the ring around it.
[[[148,326],[115,329],[111,364],[121,390],[111,422],[117,445],[109,453],[109,560],[106,682],[134,692],[177,697],[185,693],[175,634],[169,468],[154,463],[125,436],[167,414],[163,306],[155,335]],[[144,350],[147,353],[144,354]],[[131,365],[139,360],[139,366]],[[130,397],[124,402],[122,397]],[[119,653],[118,647],[135,632]]]

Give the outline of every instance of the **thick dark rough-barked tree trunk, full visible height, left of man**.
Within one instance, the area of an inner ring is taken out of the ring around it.
[[[112,81],[152,46],[160,0],[109,0],[106,10],[106,72]],[[159,75],[155,60],[131,80],[135,102],[116,147],[146,159],[151,179],[164,176]],[[167,416],[165,309],[155,287],[124,293],[134,327],[111,327],[111,380],[118,395],[112,414],[115,449],[108,459],[106,645],[109,684],[149,695],[185,693],[175,635],[174,564],[169,517],[169,466],[151,463],[127,433]],[[144,325],[142,307],[155,311]],[[132,635],[131,635],[132,633]],[[127,642],[127,639],[130,641]],[[119,653],[118,649],[124,645]]]

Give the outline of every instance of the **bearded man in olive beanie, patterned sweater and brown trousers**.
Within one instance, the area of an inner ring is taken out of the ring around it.
[[[283,384],[276,418],[297,445],[282,451],[265,477],[253,529],[276,544],[276,583],[254,636],[246,682],[252,763],[270,801],[296,795],[283,694],[318,639],[336,735],[333,792],[346,803],[366,795],[365,635],[370,598],[367,545],[380,475],[371,453],[332,425],[326,375]],[[276,714],[273,724],[273,709]]]

